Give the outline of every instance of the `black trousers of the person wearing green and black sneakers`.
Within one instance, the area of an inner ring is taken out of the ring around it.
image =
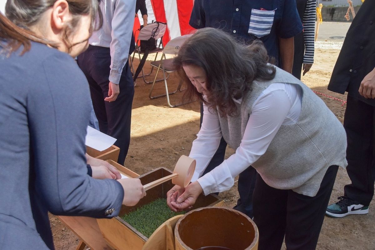
[[[375,107],[348,96],[344,128],[347,132],[347,172],[351,184],[344,195],[368,206],[374,196]]]

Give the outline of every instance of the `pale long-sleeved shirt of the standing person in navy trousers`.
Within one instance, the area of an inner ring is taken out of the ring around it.
[[[102,0],[103,26],[93,32],[89,43],[110,48],[109,81],[118,84],[129,56],[136,0]]]

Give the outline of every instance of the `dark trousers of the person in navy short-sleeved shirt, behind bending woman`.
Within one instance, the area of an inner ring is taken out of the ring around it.
[[[201,124],[203,120],[203,105],[201,104]],[[203,172],[203,175],[210,172],[212,169],[219,166],[225,157],[226,142],[224,138],[221,138],[219,148],[217,148],[214,156],[212,157],[210,163],[208,163],[207,168]],[[253,217],[253,192],[255,187],[255,180],[257,178],[257,171],[249,166],[245,171],[239,175],[237,190],[239,192],[240,198],[237,201],[237,205],[234,209],[246,214],[250,218]]]

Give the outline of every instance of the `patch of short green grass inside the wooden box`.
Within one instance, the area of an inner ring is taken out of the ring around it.
[[[171,211],[166,205],[166,199],[159,198],[129,214],[121,216],[121,219],[129,223],[145,237],[150,238],[151,234],[166,220],[184,213],[186,212],[175,213]]]

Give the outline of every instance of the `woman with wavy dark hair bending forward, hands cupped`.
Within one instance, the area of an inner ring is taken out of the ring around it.
[[[191,207],[202,192],[230,189],[252,165],[259,249],[315,249],[338,166],[345,167],[344,128],[305,84],[267,63],[261,42],[237,43],[223,31],[203,28],[181,46],[175,64],[187,97],[204,103],[190,157],[192,183],[173,187],[174,211]],[[236,150],[200,177],[221,136]]]

